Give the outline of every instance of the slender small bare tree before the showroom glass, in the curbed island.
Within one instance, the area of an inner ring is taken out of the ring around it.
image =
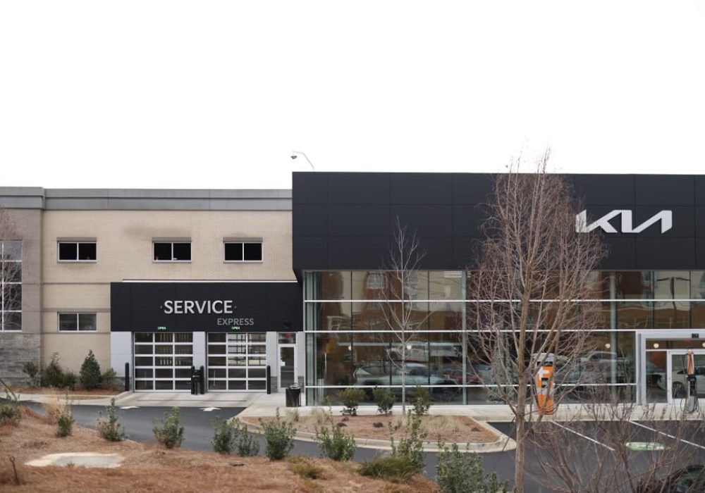
[[[398,355],[390,352],[391,363],[396,366],[401,378],[401,406],[406,414],[406,375],[407,351],[418,336],[419,327],[423,327],[431,316],[430,306],[419,310],[417,289],[419,265],[426,255],[419,246],[415,232],[409,232],[396,218],[393,242],[389,250],[389,259],[384,266],[385,289],[380,291],[384,322],[393,333],[398,346]],[[398,356],[398,361],[396,361]]]

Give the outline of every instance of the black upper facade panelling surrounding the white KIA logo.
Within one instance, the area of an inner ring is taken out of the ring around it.
[[[631,211],[632,227],[656,213],[673,213],[673,227],[655,223],[606,233],[606,269],[705,268],[705,177],[693,175],[568,175],[592,222]],[[493,175],[473,173],[294,173],[295,270],[376,269],[388,258],[395,218],[419,235],[422,268],[472,266],[482,237],[482,204]],[[580,212],[580,211],[576,211]]]

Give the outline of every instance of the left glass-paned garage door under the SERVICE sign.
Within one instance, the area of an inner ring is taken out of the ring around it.
[[[135,390],[191,389],[191,332],[135,333]]]

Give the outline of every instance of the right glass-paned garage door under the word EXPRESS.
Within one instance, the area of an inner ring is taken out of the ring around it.
[[[266,334],[210,333],[208,389],[266,390]]]

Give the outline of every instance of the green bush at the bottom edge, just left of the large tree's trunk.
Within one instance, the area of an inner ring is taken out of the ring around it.
[[[436,481],[441,493],[496,493],[507,492],[508,482],[500,482],[497,473],[485,474],[482,458],[478,454],[458,449],[454,443],[450,449],[439,442],[439,465]]]

